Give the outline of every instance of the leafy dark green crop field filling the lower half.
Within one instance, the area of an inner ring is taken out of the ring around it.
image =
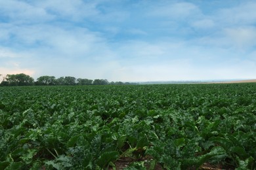
[[[256,84],[0,87],[0,169],[255,169]]]

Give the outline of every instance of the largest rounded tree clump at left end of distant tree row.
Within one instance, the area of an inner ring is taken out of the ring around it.
[[[24,73],[20,73],[17,75],[7,75],[5,77],[5,84],[9,86],[32,86],[33,78],[29,75],[25,75]]]

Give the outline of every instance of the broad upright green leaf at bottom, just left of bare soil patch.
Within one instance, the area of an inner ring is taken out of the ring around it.
[[[119,158],[119,154],[116,151],[104,152],[100,155],[98,160],[96,160],[96,164],[101,168],[106,167],[110,161],[115,161]]]

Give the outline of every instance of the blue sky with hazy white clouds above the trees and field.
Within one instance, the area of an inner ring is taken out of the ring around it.
[[[0,0],[0,74],[256,78],[256,1]]]

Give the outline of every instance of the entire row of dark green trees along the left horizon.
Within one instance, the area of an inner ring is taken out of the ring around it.
[[[24,73],[3,76],[0,86],[75,86],[75,85],[125,85],[130,82],[108,82],[106,79],[90,80],[87,78],[75,78],[74,76],[39,76],[35,81]]]

